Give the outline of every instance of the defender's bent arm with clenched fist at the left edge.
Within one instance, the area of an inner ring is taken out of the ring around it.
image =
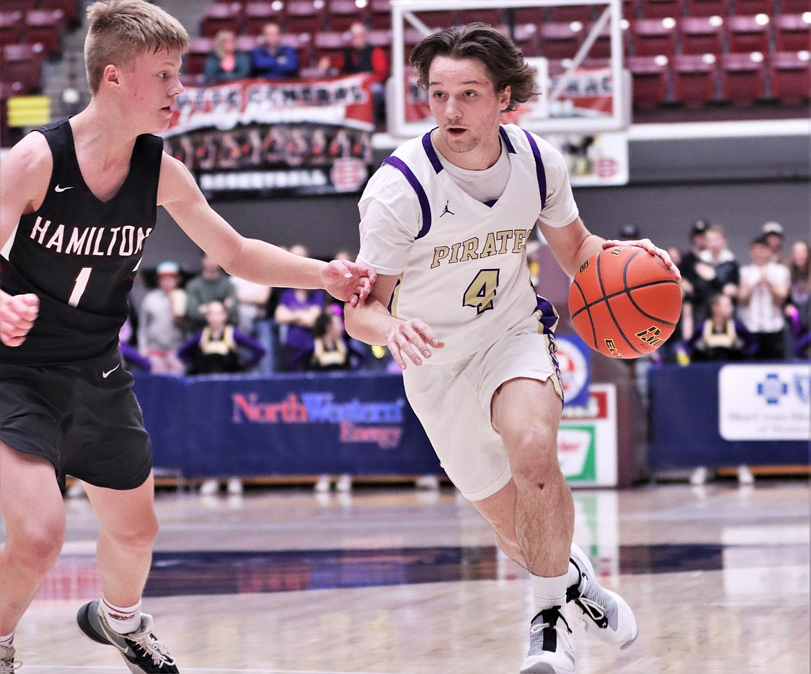
[[[0,163],[0,249],[25,213],[40,208],[48,190],[54,161],[45,136],[28,134]],[[39,313],[35,294],[10,295],[0,290],[0,341],[19,346]]]

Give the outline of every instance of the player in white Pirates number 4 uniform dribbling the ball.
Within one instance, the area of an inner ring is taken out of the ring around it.
[[[526,238],[537,222],[569,277],[618,242],[586,230],[559,152],[500,125],[534,87],[508,37],[485,24],[449,28],[417,45],[411,63],[439,126],[397,148],[363,193],[358,260],[378,277],[347,309],[346,328],[388,346],[448,477],[529,570],[536,615],[521,672],[570,674],[567,601],[620,648],[637,623],[572,543],[573,500],[556,456],[557,315],[530,283]],[[679,276],[647,239],[624,245]]]

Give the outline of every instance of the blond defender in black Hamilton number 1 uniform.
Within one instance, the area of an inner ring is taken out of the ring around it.
[[[0,164],[0,672],[65,534],[60,482],[82,479],[101,524],[102,597],[80,629],[132,672],[178,672],[141,613],[157,519],[149,439],[118,351],[127,294],[157,206],[225,270],[357,303],[375,273],[243,238],[152,135],[169,124],[184,28],[144,0],[96,2],[85,41],[92,99]]]

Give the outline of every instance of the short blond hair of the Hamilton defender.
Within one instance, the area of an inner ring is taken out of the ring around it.
[[[105,67],[131,64],[141,54],[178,49],[185,54],[189,34],[178,19],[145,0],[93,2],[84,41],[84,63],[90,91],[96,93]]]

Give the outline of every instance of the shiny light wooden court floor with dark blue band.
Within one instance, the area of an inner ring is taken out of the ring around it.
[[[809,674],[809,485],[719,480],[575,492],[577,543],[640,625],[621,653],[576,630],[581,674]],[[20,674],[127,672],[79,634],[100,589],[88,501],[17,630]],[[526,574],[452,487],[161,490],[144,611],[187,674],[516,674]],[[0,536],[4,531],[0,530]]]

